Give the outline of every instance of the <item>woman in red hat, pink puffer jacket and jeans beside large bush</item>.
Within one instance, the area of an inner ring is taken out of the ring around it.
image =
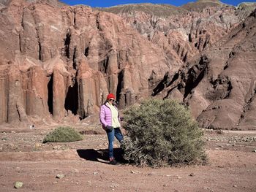
[[[114,139],[118,139],[121,142],[124,137],[120,130],[120,119],[118,116],[118,110],[114,105],[115,96],[113,93],[108,94],[107,101],[100,107],[99,120],[102,123],[102,127],[108,134],[108,153],[110,164],[116,165],[116,160],[113,156],[113,144]]]

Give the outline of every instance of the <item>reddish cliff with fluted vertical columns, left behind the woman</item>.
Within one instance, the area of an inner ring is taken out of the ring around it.
[[[83,119],[110,92],[126,107],[180,65],[118,16],[90,7],[13,0],[0,14],[1,123]]]

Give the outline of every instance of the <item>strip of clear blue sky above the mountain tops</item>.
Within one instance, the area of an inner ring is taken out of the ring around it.
[[[111,7],[118,4],[138,4],[138,3],[153,3],[153,4],[172,4],[175,6],[181,6],[182,4],[187,4],[188,2],[192,2],[192,0],[119,0],[119,1],[112,1],[112,0],[61,0],[62,2],[69,4],[69,5],[75,5],[75,4],[86,4],[91,7]],[[251,0],[221,0],[225,4],[232,4],[234,6],[240,4],[241,2],[256,2]]]

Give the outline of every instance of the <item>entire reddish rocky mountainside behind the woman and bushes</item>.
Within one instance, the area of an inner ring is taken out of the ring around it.
[[[200,126],[256,129],[255,4],[0,4],[0,123],[76,122],[112,92],[120,108],[170,97]]]

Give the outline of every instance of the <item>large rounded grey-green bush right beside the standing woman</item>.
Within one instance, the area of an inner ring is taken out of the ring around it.
[[[170,99],[149,99],[124,111],[124,158],[139,166],[204,164],[203,131],[189,110]]]

